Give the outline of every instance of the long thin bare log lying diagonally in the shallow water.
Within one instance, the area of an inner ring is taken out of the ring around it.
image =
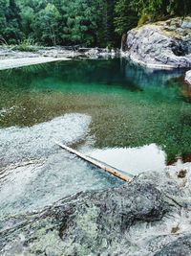
[[[85,160],[85,161],[87,161],[87,162],[89,162],[89,163],[95,165],[96,167],[98,167],[98,168],[104,170],[105,172],[110,173],[111,175],[115,175],[115,176],[117,176],[118,178],[120,178],[120,179],[122,179],[122,180],[124,180],[124,181],[130,181],[130,180],[132,179],[132,177],[129,177],[129,176],[127,176],[127,175],[122,175],[122,174],[120,174],[119,172],[117,172],[116,170],[112,169],[111,167],[107,167],[107,166],[105,166],[104,164],[102,164],[102,163],[96,161],[96,159],[93,159],[93,158],[91,158],[91,157],[89,157],[89,156],[87,156],[87,155],[85,155],[85,154],[83,154],[83,153],[81,153],[81,152],[74,151],[72,148],[70,148],[70,147],[68,147],[68,146],[66,146],[66,145],[63,145],[63,144],[61,144],[60,142],[55,141],[55,143],[56,143],[60,148],[66,150],[66,151],[70,151],[70,152],[74,153],[75,155],[77,155],[77,156],[80,157],[81,159],[83,159],[83,160]]]

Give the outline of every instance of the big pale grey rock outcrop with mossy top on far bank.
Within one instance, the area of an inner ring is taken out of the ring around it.
[[[173,18],[129,31],[124,54],[152,68],[191,67],[191,17]]]

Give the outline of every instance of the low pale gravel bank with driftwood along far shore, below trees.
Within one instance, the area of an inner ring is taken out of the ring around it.
[[[45,62],[70,60],[71,58],[115,58],[118,50],[81,47],[30,47],[21,51],[19,47],[0,47],[0,70]]]

